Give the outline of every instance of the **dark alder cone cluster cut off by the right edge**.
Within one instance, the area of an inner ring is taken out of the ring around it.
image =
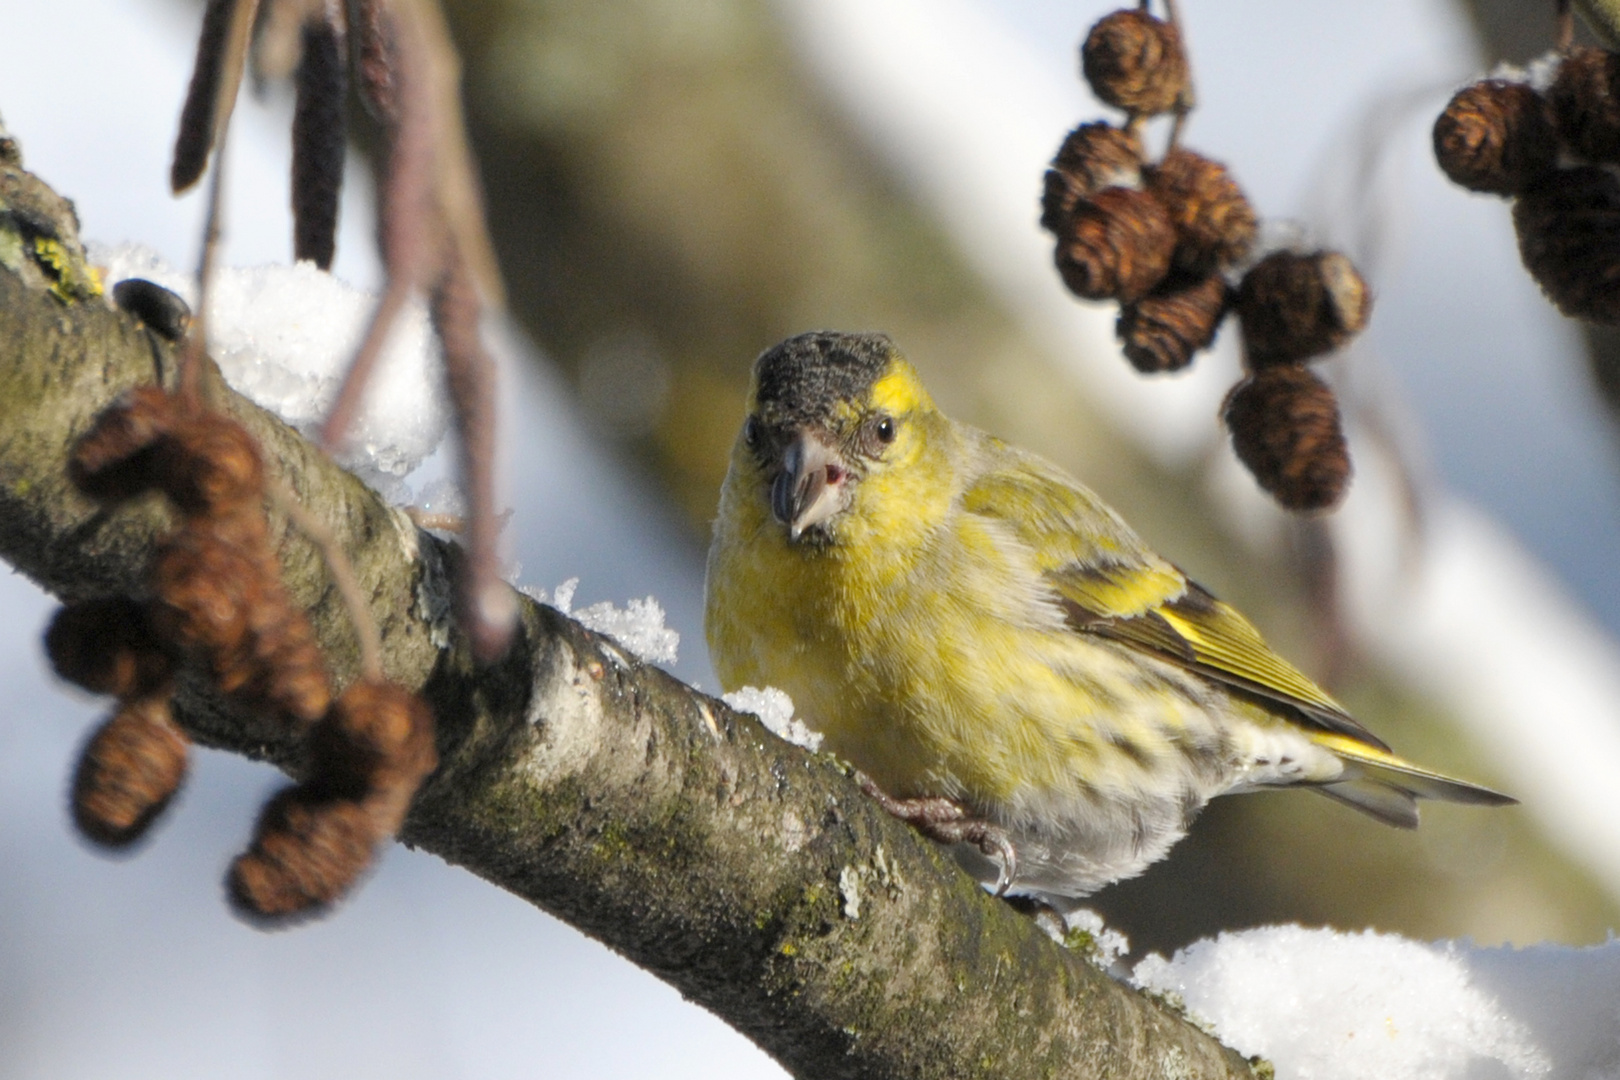
[[[1570,47],[1545,91],[1489,78],[1434,125],[1455,183],[1515,198],[1520,257],[1567,316],[1620,324],[1620,55]]]

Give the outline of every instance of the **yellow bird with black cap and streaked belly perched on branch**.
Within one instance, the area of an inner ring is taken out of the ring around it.
[[[705,636],[987,887],[1068,912],[1210,798],[1304,787],[1400,827],[1513,798],[1396,756],[1056,465],[943,415],[883,334],[753,364]]]

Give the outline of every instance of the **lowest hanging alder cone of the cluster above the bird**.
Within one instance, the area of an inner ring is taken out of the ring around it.
[[[1244,379],[1221,408],[1231,447],[1260,487],[1288,510],[1327,510],[1349,487],[1338,402],[1301,366]]]

